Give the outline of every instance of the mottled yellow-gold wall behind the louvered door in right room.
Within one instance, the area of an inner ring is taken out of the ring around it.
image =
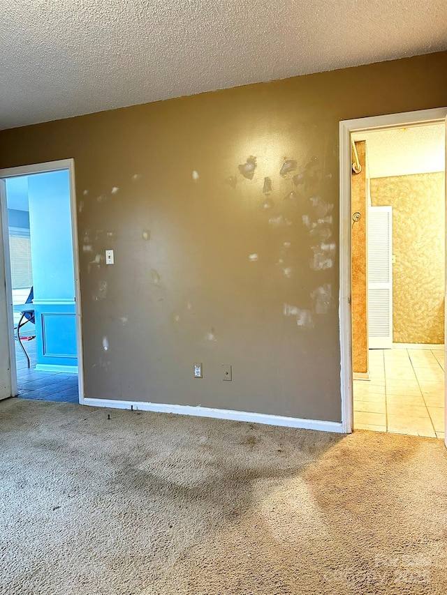
[[[393,341],[444,343],[444,172],[371,179],[393,206]]]

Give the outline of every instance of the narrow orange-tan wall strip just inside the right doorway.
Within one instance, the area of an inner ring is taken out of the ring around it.
[[[351,174],[351,213],[360,213],[360,220],[352,222],[352,359],[353,371],[368,371],[367,268],[366,268],[366,142],[356,142],[362,171]]]

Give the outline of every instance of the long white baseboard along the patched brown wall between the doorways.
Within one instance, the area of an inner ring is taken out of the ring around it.
[[[114,399],[80,400],[80,405],[91,407],[111,407],[112,409],[131,409],[135,411],[154,411],[159,413],[176,413],[180,415],[195,415],[198,417],[212,417],[214,419],[231,419],[233,421],[251,421],[252,423],[266,423],[268,425],[285,425],[288,428],[303,428],[305,430],[320,430],[321,432],[343,432],[341,422],[320,421],[318,419],[300,419],[282,415],[265,413],[248,413],[231,409],[214,409],[212,407],[193,407],[192,405],[166,405],[164,403],[149,403],[140,401],[121,401]]]

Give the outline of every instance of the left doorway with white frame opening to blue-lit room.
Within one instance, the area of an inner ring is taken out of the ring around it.
[[[12,396],[80,402],[73,162],[0,170],[0,185]]]

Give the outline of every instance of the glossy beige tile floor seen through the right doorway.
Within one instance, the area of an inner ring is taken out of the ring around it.
[[[444,438],[444,349],[369,349],[354,380],[354,430]]]

